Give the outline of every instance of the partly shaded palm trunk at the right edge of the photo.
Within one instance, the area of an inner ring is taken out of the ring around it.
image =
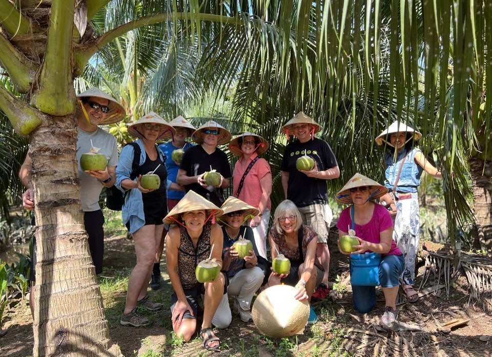
[[[492,161],[471,158],[470,169],[478,240],[482,249],[492,252]]]

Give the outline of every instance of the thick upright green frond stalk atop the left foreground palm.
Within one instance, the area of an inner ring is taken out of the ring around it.
[[[72,81],[72,33],[75,1],[53,0],[39,87],[31,103],[44,113],[67,115],[75,110]]]

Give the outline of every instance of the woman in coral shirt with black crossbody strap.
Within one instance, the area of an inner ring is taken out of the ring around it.
[[[242,133],[229,143],[229,151],[239,156],[232,174],[232,194],[258,208],[258,215],[251,219],[249,225],[253,228],[258,253],[265,259],[272,207],[272,172],[268,161],[260,156],[267,150],[268,141],[250,132]]]

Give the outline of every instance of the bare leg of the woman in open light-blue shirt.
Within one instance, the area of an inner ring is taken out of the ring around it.
[[[156,251],[155,239],[152,239],[155,237],[155,225],[145,225],[138,229],[132,236],[135,244],[137,264],[133,268],[128,281],[124,314],[130,313],[137,306],[137,300],[147,295],[149,272],[152,271]],[[144,286],[146,293],[144,296],[141,296]]]

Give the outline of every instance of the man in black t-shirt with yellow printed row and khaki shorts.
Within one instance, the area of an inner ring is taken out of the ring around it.
[[[313,227],[318,234],[316,256],[324,268],[324,276],[322,284],[313,294],[315,300],[322,300],[329,293],[330,252],[327,239],[333,215],[328,205],[326,181],[340,176],[337,159],[330,145],[314,136],[320,130],[320,125],[303,112],[299,112],[282,127],[285,135],[294,135],[296,138],[286,146],[283,155],[282,187],[285,198],[296,204],[304,223]],[[304,155],[315,162],[311,171],[297,170],[296,161]]]

